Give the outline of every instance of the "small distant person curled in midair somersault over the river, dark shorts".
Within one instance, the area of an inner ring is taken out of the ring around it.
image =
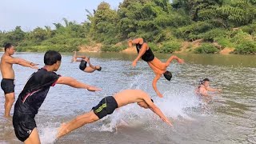
[[[81,58],[81,59],[78,59]],[[80,62],[79,65],[79,69],[82,71],[85,71],[86,73],[92,73],[95,70],[102,70],[101,66],[93,66],[92,64],[90,64],[90,58],[87,58],[86,56],[77,56],[77,52],[74,51],[74,56],[71,60],[71,62]],[[89,66],[86,66],[87,63],[89,64]]]

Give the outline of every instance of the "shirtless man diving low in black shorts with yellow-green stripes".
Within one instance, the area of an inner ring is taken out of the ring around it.
[[[137,102],[138,106],[152,110],[163,122],[172,126],[169,119],[162,114],[162,111],[158,106],[154,105],[153,100],[150,99],[150,96],[146,94],[146,92],[142,90],[122,90],[121,92],[114,94],[114,96],[102,98],[102,101],[99,102],[97,106],[94,106],[90,112],[79,115],[70,122],[62,124],[58,131],[57,138],[61,138],[87,123],[96,122],[99,119],[104,118],[107,114],[112,114],[114,110],[119,107],[135,102]]]

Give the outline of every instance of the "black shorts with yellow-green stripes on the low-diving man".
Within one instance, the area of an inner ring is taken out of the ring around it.
[[[94,106],[94,114],[98,116],[99,119],[105,117],[107,114],[112,114],[114,110],[118,108],[118,103],[114,97],[109,96],[102,99],[97,106]]]

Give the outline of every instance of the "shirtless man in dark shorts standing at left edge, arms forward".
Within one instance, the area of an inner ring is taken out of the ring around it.
[[[12,55],[15,52],[15,48],[12,44],[7,43],[5,46],[5,53],[2,54],[1,58],[1,73],[2,73],[2,82],[1,88],[5,93],[5,114],[4,117],[10,117],[10,109],[13,106],[15,96],[14,96],[14,69],[13,64],[18,64],[21,66],[30,67],[32,69],[38,69],[33,62],[28,62],[22,58],[14,58]]]

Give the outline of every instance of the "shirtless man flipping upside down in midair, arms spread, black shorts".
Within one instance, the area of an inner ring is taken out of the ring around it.
[[[177,60],[178,63],[184,63],[184,61],[181,58],[178,58],[177,56],[173,55],[166,62],[161,62],[158,58],[154,57],[154,54],[150,49],[150,46],[148,46],[147,43],[144,42],[142,38],[136,38],[128,42],[128,45],[130,47],[134,44],[136,45],[138,57],[134,59],[132,66],[136,66],[140,58],[147,62],[147,64],[150,66],[150,68],[154,71],[155,74],[155,78],[152,82],[154,91],[158,94],[158,97],[162,98],[162,94],[158,91],[157,88],[157,82],[159,78],[161,78],[163,74],[164,77],[168,81],[170,81],[170,78],[172,78],[172,74],[170,73],[170,71],[166,70],[167,67],[170,65],[170,62],[172,62],[174,59]]]

